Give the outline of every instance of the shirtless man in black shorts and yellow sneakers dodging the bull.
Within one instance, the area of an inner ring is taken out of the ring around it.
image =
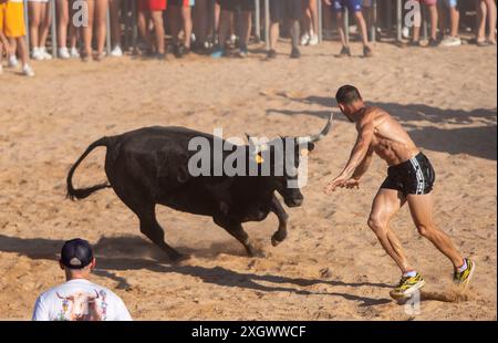
[[[366,107],[354,86],[342,86],[335,97],[341,112],[356,124],[359,135],[345,168],[324,190],[331,194],[338,188],[359,187],[374,153],[390,166],[387,178],[373,200],[369,227],[402,271],[402,279],[391,291],[391,295],[408,297],[425,284],[422,276],[406,260],[400,240],[388,226],[405,202],[408,202],[418,232],[452,261],[455,268],[454,282],[466,289],[476,264],[468,258],[464,259],[452,239],[433,221],[430,191],[435,173],[428,158],[386,112]]]

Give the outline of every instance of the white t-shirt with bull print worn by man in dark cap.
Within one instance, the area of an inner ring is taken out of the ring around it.
[[[54,287],[37,299],[33,321],[132,321],[123,300],[84,279]]]

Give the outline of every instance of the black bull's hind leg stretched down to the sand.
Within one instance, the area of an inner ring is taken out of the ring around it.
[[[155,205],[148,205],[136,214],[141,220],[141,232],[166,252],[169,259],[178,261],[186,258],[165,242],[164,230],[156,219]]]

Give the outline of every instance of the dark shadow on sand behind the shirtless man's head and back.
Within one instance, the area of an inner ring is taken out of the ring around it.
[[[284,93],[277,96],[286,97],[304,104],[318,104],[336,110],[332,97],[308,96],[293,98]],[[369,106],[377,106],[387,111],[409,131],[415,144],[425,149],[456,154],[467,154],[475,157],[497,160],[497,108],[476,108],[473,111],[442,110],[425,104],[402,105],[396,103],[367,102]],[[305,114],[326,118],[330,111],[288,111],[267,110],[267,114],[286,115]],[[336,119],[346,121],[342,115]],[[415,122],[426,122],[425,126]],[[464,127],[447,127],[450,125],[468,125]],[[476,125],[478,124],[478,126]]]

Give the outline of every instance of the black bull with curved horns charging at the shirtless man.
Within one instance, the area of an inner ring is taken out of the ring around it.
[[[320,134],[292,138],[297,143],[295,169],[299,167],[300,147],[313,149],[314,142],[329,133],[331,123],[332,115]],[[68,175],[68,196],[71,199],[83,199],[98,189],[113,188],[120,199],[138,217],[142,233],[173,260],[178,260],[181,256],[164,240],[164,230],[156,219],[156,204],[211,217],[218,226],[243,245],[249,256],[257,254],[257,250],[241,224],[261,221],[269,212],[273,212],[279,219],[279,228],[271,242],[273,246],[282,242],[287,237],[289,216],[274,193],[278,191],[289,207],[301,206],[303,196],[299,188],[287,187],[287,181],[295,178],[295,175],[289,176],[287,170],[282,176],[274,175],[274,163],[279,162],[273,160],[277,152],[271,143],[266,145],[267,148],[270,147],[272,156],[268,176],[227,176],[224,172],[221,176],[194,177],[188,172],[188,160],[196,152],[189,150],[188,145],[196,137],[204,137],[214,146],[212,135],[183,127],[147,127],[118,136],[103,137],[90,145],[71,168]],[[107,148],[105,173],[108,184],[75,189],[72,185],[75,169],[98,146]],[[258,159],[256,155],[264,155],[262,145],[246,145],[243,148],[249,163]],[[226,158],[230,152],[225,150],[222,154]]]

